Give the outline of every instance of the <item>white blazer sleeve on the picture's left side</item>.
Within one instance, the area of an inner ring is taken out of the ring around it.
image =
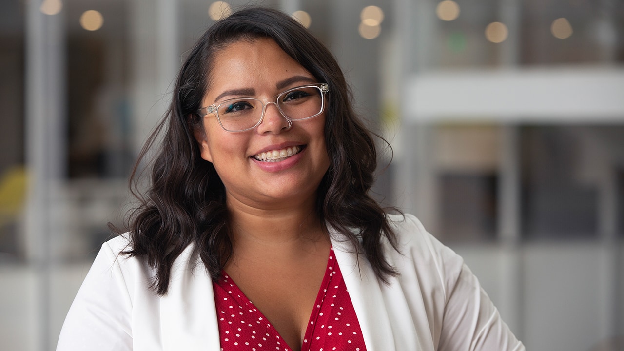
[[[57,351],[132,350],[132,300],[124,267],[105,242],[63,324]]]

